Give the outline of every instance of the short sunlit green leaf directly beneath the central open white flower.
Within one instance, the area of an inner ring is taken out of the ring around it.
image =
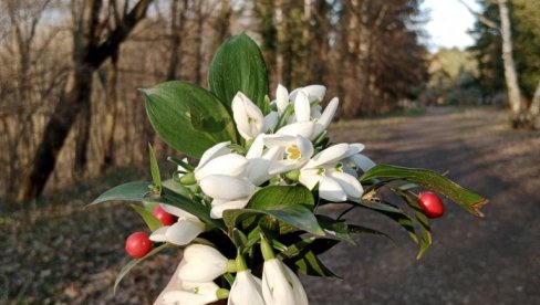
[[[276,206],[303,204],[312,207],[313,196],[303,186],[270,186],[260,189],[251,197],[248,209],[264,210]]]

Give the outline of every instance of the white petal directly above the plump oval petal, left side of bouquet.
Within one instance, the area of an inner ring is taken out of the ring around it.
[[[246,172],[248,159],[238,154],[227,154],[209,160],[202,168],[195,170],[195,179],[200,181],[210,175],[239,177]]]

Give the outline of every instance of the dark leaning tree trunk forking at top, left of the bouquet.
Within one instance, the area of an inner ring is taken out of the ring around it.
[[[135,25],[146,15],[152,0],[139,0],[124,15],[121,23],[97,45],[97,27],[102,1],[84,2],[82,29],[75,32],[75,69],[54,112],[45,125],[44,134],[35,151],[31,169],[24,175],[18,191],[18,200],[24,201],[43,192],[54,170],[56,158],[65,139],[86,103],[90,103],[92,74],[120,48]],[[81,35],[81,33],[83,33]],[[82,41],[81,41],[82,40]]]

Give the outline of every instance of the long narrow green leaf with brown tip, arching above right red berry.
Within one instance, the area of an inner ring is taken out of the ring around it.
[[[488,203],[486,198],[460,187],[448,178],[427,169],[413,169],[377,165],[360,177],[360,182],[370,179],[401,179],[439,192],[477,217],[484,217],[480,208]]]

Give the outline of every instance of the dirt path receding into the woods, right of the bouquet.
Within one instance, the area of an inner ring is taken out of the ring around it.
[[[396,244],[361,236],[357,249],[331,251],[325,262],[346,281],[305,278],[312,303],[539,304],[540,137],[507,130],[503,120],[495,111],[434,108],[378,125],[373,139],[361,130],[366,126],[333,130],[338,141],[364,141],[377,161],[448,171],[491,202],[479,220],[447,204],[432,222],[435,242],[420,261],[386,219],[355,212],[351,219],[390,232]]]

